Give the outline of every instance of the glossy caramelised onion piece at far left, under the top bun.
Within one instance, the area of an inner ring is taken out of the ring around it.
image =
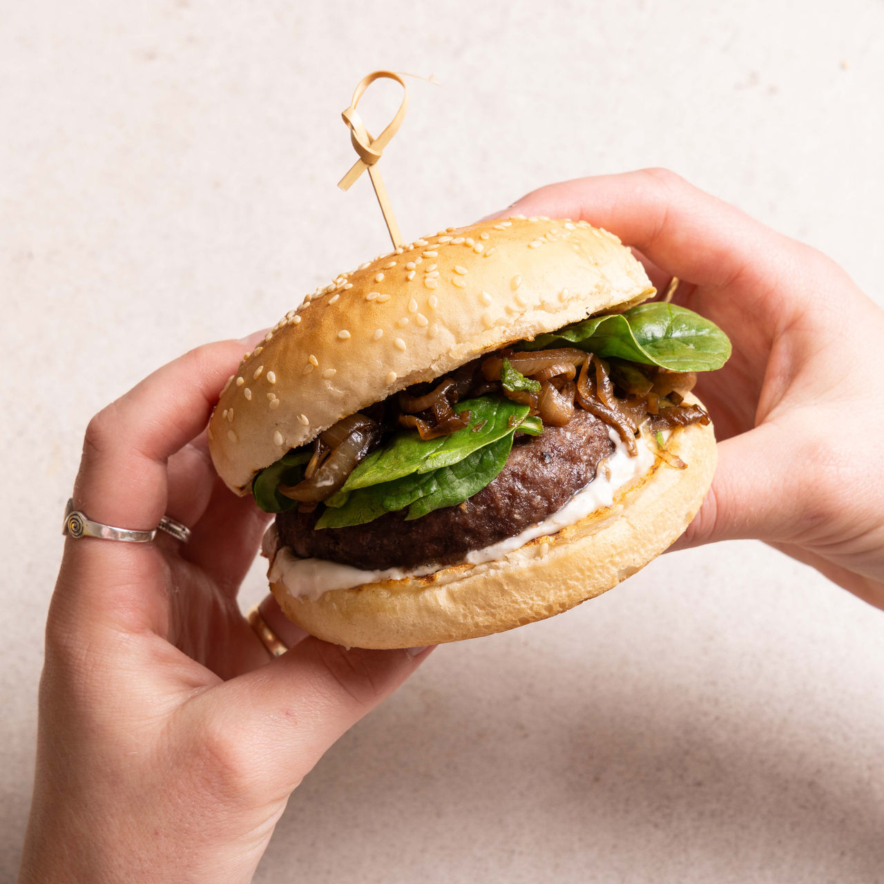
[[[296,485],[279,485],[278,491],[287,498],[301,503],[316,504],[331,497],[347,481],[354,467],[369,453],[370,447],[380,438],[380,427],[365,415],[345,417],[324,431],[317,439],[316,452],[310,463],[323,451],[331,453],[314,472]],[[309,466],[309,465],[308,465]],[[307,471],[304,471],[307,476]]]

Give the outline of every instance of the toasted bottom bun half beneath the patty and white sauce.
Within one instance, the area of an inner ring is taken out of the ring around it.
[[[537,537],[501,560],[363,583],[317,599],[293,595],[282,581],[271,583],[271,590],[289,620],[347,647],[423,647],[544,620],[635,574],[687,528],[712,484],[712,425],[674,430],[667,451],[687,468],[657,457],[611,507]]]

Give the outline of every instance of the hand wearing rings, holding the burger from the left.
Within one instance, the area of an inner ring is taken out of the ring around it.
[[[346,651],[275,603],[270,660],[236,595],[267,516],[202,435],[242,344],[171,362],[89,424],[74,507],[191,526],[186,545],[65,541],[46,629],[20,881],[248,881],[290,792],[427,652]]]

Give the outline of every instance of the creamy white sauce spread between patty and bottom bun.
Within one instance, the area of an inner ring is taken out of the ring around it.
[[[526,528],[521,534],[466,553],[461,562],[479,565],[503,559],[508,552],[519,549],[537,537],[556,534],[568,525],[580,522],[596,510],[610,507],[614,496],[621,488],[651,469],[654,455],[650,447],[644,444],[644,438],[638,438],[636,439],[638,453],[635,457],[630,457],[616,431],[609,430],[608,434],[614,444],[614,453],[599,463],[595,479],[568,500],[564,507],[543,522],[537,522]],[[284,546],[273,559],[269,577],[271,583],[284,583],[293,596],[316,600],[329,590],[348,590],[354,586],[361,586],[362,583],[421,577],[448,567],[450,566],[430,564],[421,568],[363,571],[362,568],[352,568],[325,559],[299,559],[288,546]]]

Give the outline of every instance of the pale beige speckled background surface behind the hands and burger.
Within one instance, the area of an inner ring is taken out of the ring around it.
[[[880,0],[353,8],[0,5],[0,880],[83,428],[385,248],[368,181],[334,186],[363,73],[443,84],[415,81],[385,158],[406,236],[663,164],[881,301]],[[304,782],[256,880],[884,880],[882,639],[884,614],[764,546],[666,556],[436,652]]]

